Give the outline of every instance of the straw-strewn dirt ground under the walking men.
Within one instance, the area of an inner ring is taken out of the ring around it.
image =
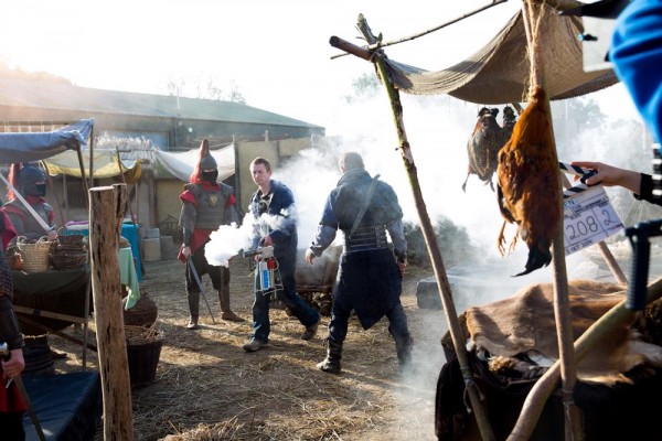
[[[431,270],[408,268],[404,279],[402,300],[416,365],[410,377],[398,373],[386,319],[369,331],[355,319],[350,322],[338,376],[316,368],[325,354],[328,316],[318,335],[305,342],[296,319],[271,310],[269,347],[244,352],[252,331],[253,282],[246,259],[234,258],[231,271],[232,308],[246,322],[220,320],[218,298],[205,276],[216,323],[201,300],[202,326],[189,331],[183,265],[146,262],[141,292],[158,305],[156,326],[163,346],[154,383],[131,392],[136,440],[436,439],[434,399],[446,320],[442,311],[416,305],[416,284],[433,276]],[[81,334],[73,326],[65,332]],[[50,341],[68,353],[55,361],[57,372],[81,368],[81,346],[54,335]],[[87,354],[88,366],[96,368],[96,353]],[[103,439],[100,424],[96,439]]]

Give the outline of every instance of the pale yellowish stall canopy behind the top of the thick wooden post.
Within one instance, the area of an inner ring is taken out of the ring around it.
[[[66,174],[67,176],[81,178],[81,165],[75,151],[65,151],[43,161],[49,174]],[[85,175],[89,176],[89,151],[83,151],[83,164]],[[139,166],[138,161],[121,159],[121,169],[117,159],[116,150],[94,150],[93,154],[94,178],[113,178],[120,173],[132,171]]]

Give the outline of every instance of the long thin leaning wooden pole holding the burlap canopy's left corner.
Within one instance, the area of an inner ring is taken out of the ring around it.
[[[363,14],[359,15],[357,25],[363,35],[365,36],[366,41],[370,44],[373,44],[376,41],[376,39],[372,34],[367,22],[363,18]],[[441,301],[444,304],[444,311],[446,313],[446,320],[448,322],[448,327],[456,349],[458,362],[460,364],[460,369],[462,372],[465,385],[467,387],[469,399],[471,401],[470,411],[472,411],[476,417],[476,422],[480,430],[481,438],[485,441],[491,441],[495,439],[494,433],[490,426],[487,411],[483,409],[481,402],[481,395],[476,384],[473,373],[471,372],[467,348],[465,346],[466,336],[463,335],[459,324],[458,314],[455,308],[455,303],[452,301],[452,294],[450,292],[450,283],[448,282],[448,277],[444,267],[444,259],[441,257],[441,251],[439,250],[439,244],[437,243],[435,229],[430,222],[427,208],[425,206],[425,201],[423,198],[423,192],[420,190],[420,183],[418,182],[418,174],[416,171],[416,164],[414,162],[414,155],[412,154],[412,149],[409,147],[409,141],[407,140],[407,133],[405,131],[405,125],[403,121],[403,107],[399,100],[399,94],[395,89],[393,83],[391,82],[391,78],[388,77],[382,55],[383,53],[381,51],[374,52],[372,61],[377,67],[377,73],[382,78],[382,82],[388,95],[388,99],[391,101],[391,108],[393,110],[395,128],[399,141],[399,152],[403,157],[403,164],[409,178],[409,184],[412,185],[418,217],[420,219],[423,237],[425,239],[428,254],[430,255],[435,277],[437,279],[437,286],[439,287],[439,291],[441,293]]]

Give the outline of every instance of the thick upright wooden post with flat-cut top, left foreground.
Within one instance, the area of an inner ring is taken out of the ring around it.
[[[104,398],[104,440],[134,439],[118,258],[126,197],[124,184],[89,190],[92,291]]]

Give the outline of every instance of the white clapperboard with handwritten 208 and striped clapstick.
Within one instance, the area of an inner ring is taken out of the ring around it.
[[[623,223],[609,203],[602,185],[587,185],[584,181],[592,170],[559,162],[565,173],[581,176],[581,183],[563,192],[564,246],[566,256],[589,247],[623,229]]]

